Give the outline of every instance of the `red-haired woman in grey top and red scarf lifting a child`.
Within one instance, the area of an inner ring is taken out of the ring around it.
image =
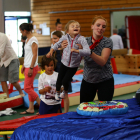
[[[84,73],[80,89],[80,103],[93,101],[97,92],[100,101],[111,101],[114,94],[114,78],[110,65],[112,40],[104,37],[107,21],[95,16],[91,25],[92,36],[87,38],[91,55],[84,57]],[[63,42],[62,47],[67,43]],[[87,88],[88,87],[88,88]]]

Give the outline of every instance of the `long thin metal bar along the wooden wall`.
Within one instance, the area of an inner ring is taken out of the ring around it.
[[[123,9],[138,9],[140,7],[122,7],[122,8],[106,8],[106,9],[84,9],[84,10],[66,10],[66,11],[55,11],[49,12],[49,14],[54,13],[71,13],[71,12],[87,12],[87,11],[107,11],[107,10],[123,10]]]

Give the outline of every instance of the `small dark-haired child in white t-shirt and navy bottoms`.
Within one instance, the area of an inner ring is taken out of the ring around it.
[[[42,57],[41,69],[45,70],[39,76],[38,90],[41,94],[39,114],[61,113],[61,101],[55,100],[56,81],[58,73],[54,71],[56,61],[54,57],[47,58],[45,55]]]

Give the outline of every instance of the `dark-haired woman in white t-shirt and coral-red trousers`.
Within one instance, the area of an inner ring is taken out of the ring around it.
[[[33,81],[38,73],[38,40],[32,35],[33,25],[22,23],[19,27],[23,36],[26,36],[24,64],[21,73],[25,75],[24,90],[29,97],[29,108],[20,114],[34,113],[34,101],[40,105],[38,94],[33,89]]]

